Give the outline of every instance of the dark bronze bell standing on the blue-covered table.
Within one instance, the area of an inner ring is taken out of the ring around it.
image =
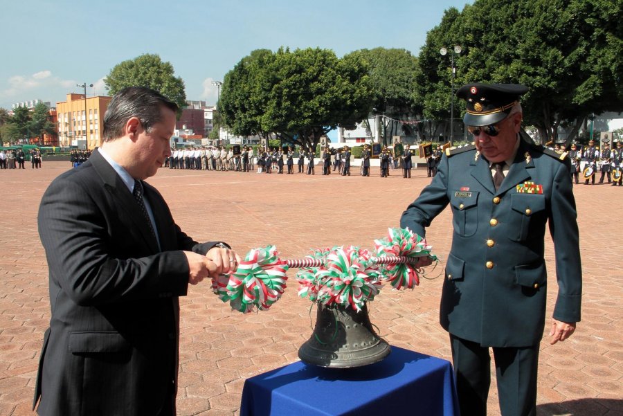
[[[318,305],[314,334],[298,349],[298,358],[320,367],[361,367],[381,361],[389,344],[372,329],[368,306],[357,312],[343,305]]]

